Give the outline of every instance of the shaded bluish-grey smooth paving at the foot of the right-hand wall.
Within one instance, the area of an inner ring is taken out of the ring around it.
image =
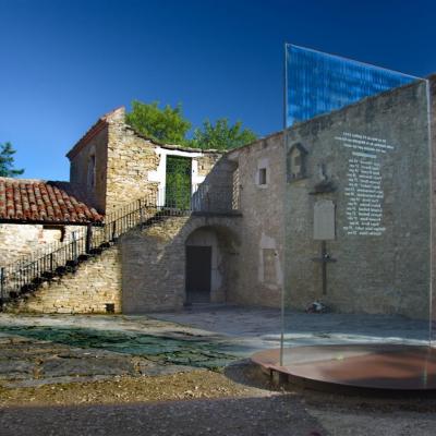
[[[197,306],[182,312],[149,314],[164,322],[172,322],[197,331],[214,331],[240,338],[279,340],[281,330],[280,310],[246,308],[238,306]],[[286,312],[286,337],[319,340],[337,336],[355,339],[403,339],[426,341],[428,338],[427,319],[410,319],[396,315],[371,314],[306,314]],[[308,344],[308,343],[307,343]]]

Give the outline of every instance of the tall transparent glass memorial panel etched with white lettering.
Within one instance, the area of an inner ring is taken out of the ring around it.
[[[429,343],[428,94],[286,45],[284,366],[295,346]]]

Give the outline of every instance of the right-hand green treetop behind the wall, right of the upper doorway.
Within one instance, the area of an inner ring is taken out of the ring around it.
[[[250,129],[242,129],[242,122],[229,125],[227,118],[220,118],[215,125],[206,120],[202,129],[195,129],[191,146],[196,148],[215,148],[226,150],[250,144],[257,135]]]

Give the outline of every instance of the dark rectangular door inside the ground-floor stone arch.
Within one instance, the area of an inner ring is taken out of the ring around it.
[[[211,246],[186,246],[186,302],[210,302]]]

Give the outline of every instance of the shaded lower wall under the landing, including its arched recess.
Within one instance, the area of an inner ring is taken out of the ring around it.
[[[239,216],[162,217],[122,237],[123,313],[180,310],[190,302],[238,302],[239,221]],[[208,251],[209,257],[193,257],[195,249]]]

